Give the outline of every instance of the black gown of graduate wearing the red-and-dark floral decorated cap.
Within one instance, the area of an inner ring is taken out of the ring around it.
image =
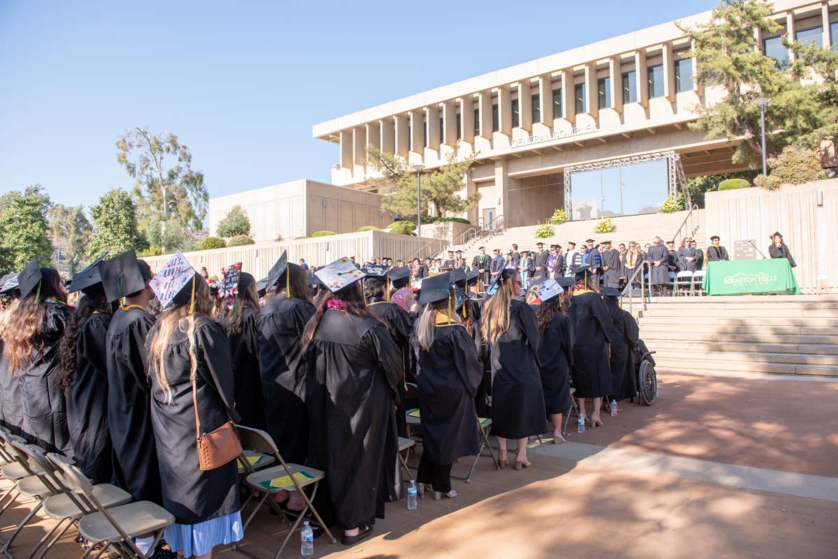
[[[233,398],[235,411],[246,427],[265,430],[265,402],[262,399],[259,372],[259,312],[241,307],[241,333],[227,333],[230,359],[233,364]],[[226,325],[225,325],[226,326]]]

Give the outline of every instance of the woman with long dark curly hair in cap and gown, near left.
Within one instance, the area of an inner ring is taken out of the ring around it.
[[[106,344],[113,314],[99,274],[104,256],[73,276],[70,290],[84,295],[70,316],[59,347],[73,456],[94,484],[109,484],[113,478]]]

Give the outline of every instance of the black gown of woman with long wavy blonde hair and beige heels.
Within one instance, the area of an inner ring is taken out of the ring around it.
[[[538,362],[538,324],[524,301],[512,300],[510,329],[491,348],[492,434],[525,438],[544,433],[544,393]]]

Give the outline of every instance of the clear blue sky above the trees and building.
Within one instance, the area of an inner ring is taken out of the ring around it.
[[[210,197],[328,182],[338,148],[313,124],[716,3],[0,0],[0,193],[130,187],[114,144],[133,126],[176,133]]]

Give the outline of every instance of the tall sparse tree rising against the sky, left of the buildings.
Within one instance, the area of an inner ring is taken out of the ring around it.
[[[189,231],[203,228],[209,203],[204,173],[192,169],[192,154],[178,136],[137,127],[120,136],[116,148],[116,161],[135,180],[141,228],[153,246],[172,249],[156,243],[186,238]],[[181,229],[181,234],[173,228]]]

